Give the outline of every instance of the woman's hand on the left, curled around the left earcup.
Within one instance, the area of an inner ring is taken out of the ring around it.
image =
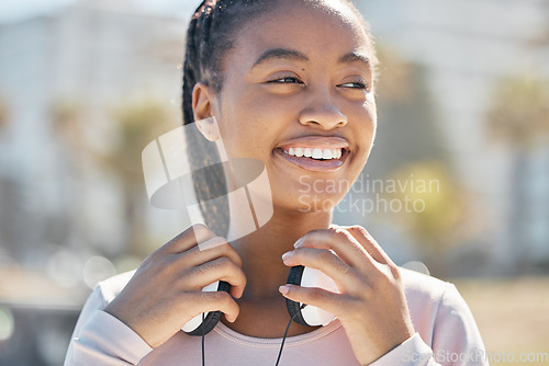
[[[221,310],[236,320],[239,309],[229,294],[202,291],[216,281],[229,283],[239,298],[246,286],[242,260],[225,239],[194,225],[153,252],[105,311],[157,347],[201,312]]]

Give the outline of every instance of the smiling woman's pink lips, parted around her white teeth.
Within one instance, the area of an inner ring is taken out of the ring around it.
[[[320,148],[320,149],[341,149],[339,159],[315,160],[306,157],[298,158],[284,152],[290,148]],[[349,156],[350,144],[343,137],[337,136],[305,136],[294,138],[278,145],[273,152],[290,163],[301,169],[312,172],[333,172],[339,169]]]

